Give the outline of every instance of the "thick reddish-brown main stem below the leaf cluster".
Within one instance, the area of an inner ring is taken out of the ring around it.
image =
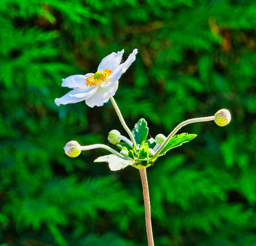
[[[146,236],[148,238],[149,246],[154,246],[153,231],[152,231],[152,225],[151,225],[149,185],[148,185],[148,180],[146,178],[146,167],[140,168],[140,178],[141,178],[141,181],[142,181],[144,206],[145,206]]]

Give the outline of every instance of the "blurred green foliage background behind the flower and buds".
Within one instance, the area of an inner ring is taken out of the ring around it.
[[[111,103],[54,103],[62,78],[135,48],[115,95],[130,128],[232,115],[147,169],[155,245],[256,245],[255,0],[1,0],[0,25],[1,246],[146,245],[138,170],[63,150],[126,135]]]

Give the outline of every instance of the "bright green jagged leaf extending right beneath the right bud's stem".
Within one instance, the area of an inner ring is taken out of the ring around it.
[[[164,146],[162,151],[159,153],[159,156],[166,154],[167,151],[171,150],[172,148],[176,148],[181,146],[183,143],[187,143],[188,141],[194,139],[197,135],[196,134],[188,134],[188,133],[181,133],[179,135],[174,135],[172,139]]]

